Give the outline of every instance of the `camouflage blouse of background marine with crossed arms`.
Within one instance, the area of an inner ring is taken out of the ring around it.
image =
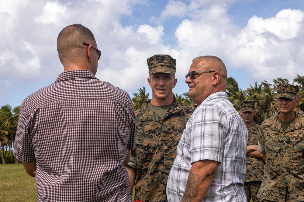
[[[258,132],[260,125],[254,122],[253,126],[248,128],[248,145],[257,145],[259,141]],[[246,176],[244,182],[262,181],[264,175],[263,158],[247,156]]]

